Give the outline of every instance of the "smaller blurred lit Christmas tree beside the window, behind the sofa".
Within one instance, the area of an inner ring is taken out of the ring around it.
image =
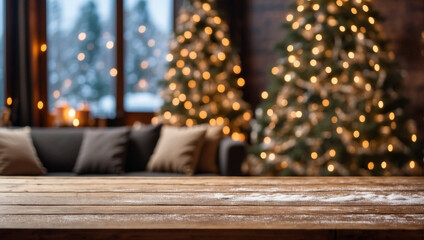
[[[170,44],[164,105],[155,121],[192,126],[225,125],[223,132],[244,140],[251,113],[242,100],[239,57],[231,48],[228,25],[214,0],[186,0]]]

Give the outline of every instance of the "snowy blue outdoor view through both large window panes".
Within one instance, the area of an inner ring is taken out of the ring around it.
[[[115,0],[47,0],[48,100],[96,117],[116,109]],[[172,0],[124,1],[124,108],[152,112],[166,73]]]

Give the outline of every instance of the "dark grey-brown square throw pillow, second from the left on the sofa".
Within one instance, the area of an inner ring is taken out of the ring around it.
[[[75,163],[77,174],[124,172],[129,129],[88,129]]]

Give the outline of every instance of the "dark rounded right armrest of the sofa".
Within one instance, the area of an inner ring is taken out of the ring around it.
[[[247,146],[230,137],[221,140],[219,144],[219,173],[222,176],[241,176],[241,165],[247,156]]]

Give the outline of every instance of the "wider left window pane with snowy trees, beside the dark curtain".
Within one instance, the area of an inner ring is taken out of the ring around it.
[[[47,0],[48,103],[88,103],[93,115],[116,109],[114,0]]]

